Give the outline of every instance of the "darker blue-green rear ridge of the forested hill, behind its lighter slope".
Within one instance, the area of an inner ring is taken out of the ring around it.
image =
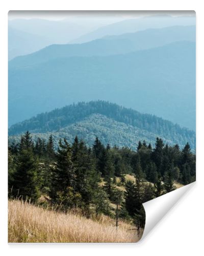
[[[149,133],[164,137],[181,145],[187,142],[195,149],[195,132],[173,124],[155,115],[141,114],[132,109],[126,109],[107,101],[79,102],[37,115],[29,120],[14,124],[9,129],[9,135],[21,134],[25,131],[46,133],[59,131],[71,123],[81,121],[91,114],[101,114],[118,122],[138,127]]]

